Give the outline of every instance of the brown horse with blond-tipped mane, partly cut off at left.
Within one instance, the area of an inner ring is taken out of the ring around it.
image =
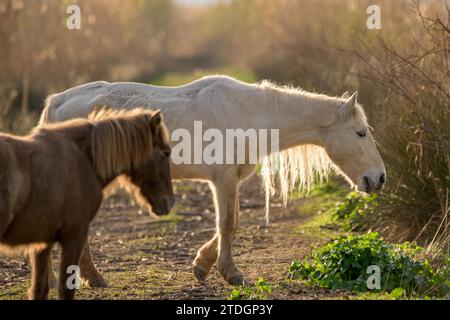
[[[116,177],[133,185],[153,212],[168,213],[174,203],[169,155],[161,114],[143,109],[103,109],[26,137],[0,134],[0,244],[8,252],[30,251],[31,299],[47,298],[56,242],[58,297],[73,299],[68,271],[78,265],[89,223]]]

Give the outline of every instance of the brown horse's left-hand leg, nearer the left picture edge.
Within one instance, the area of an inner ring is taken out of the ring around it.
[[[28,297],[32,300],[44,300],[48,295],[48,261],[51,256],[52,246],[45,248],[35,248],[30,252],[31,262],[31,287],[28,291]]]

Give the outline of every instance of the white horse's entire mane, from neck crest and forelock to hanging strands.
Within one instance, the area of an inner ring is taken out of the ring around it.
[[[301,95],[315,100],[332,98],[341,104],[343,100],[346,100],[344,97],[311,93],[293,86],[278,86],[268,80],[263,80],[260,86],[272,95],[275,106],[278,104],[277,96],[280,93]],[[358,103],[355,105],[353,117],[357,123],[369,127],[364,110]],[[266,198],[266,224],[269,223],[270,198],[275,195],[277,178],[279,194],[286,206],[295,189],[308,193],[316,182],[326,180],[331,171],[340,172],[328,157],[325,149],[313,144],[300,145],[270,154],[262,159],[261,164],[262,183]]]

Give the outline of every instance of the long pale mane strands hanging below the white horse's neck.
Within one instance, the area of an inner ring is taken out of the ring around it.
[[[311,144],[264,157],[261,174],[266,196],[266,224],[269,224],[270,198],[275,195],[276,177],[286,206],[295,188],[308,191],[316,181],[323,181],[333,167],[325,149]]]

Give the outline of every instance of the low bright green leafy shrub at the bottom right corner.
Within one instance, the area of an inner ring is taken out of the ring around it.
[[[329,289],[368,291],[367,268],[380,268],[380,291],[395,296],[441,296],[450,292],[450,264],[436,271],[426,260],[417,258],[421,247],[405,243],[394,245],[378,233],[339,237],[319,249],[311,258],[294,261],[289,267],[291,279]],[[400,292],[402,294],[400,294]]]

